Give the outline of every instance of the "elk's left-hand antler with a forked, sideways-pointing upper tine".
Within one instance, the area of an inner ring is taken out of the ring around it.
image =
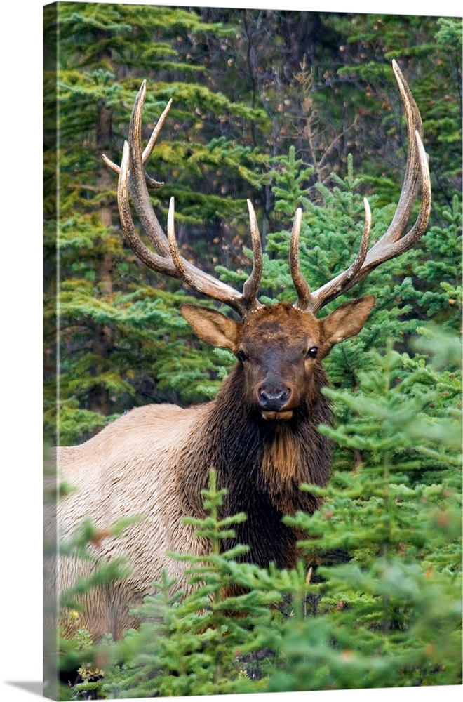
[[[175,239],[173,198],[170,199],[167,237],[154,214],[152,204],[149,201],[148,188],[159,188],[162,187],[163,183],[159,183],[147,175],[145,172],[145,163],[154,149],[163,121],[166,119],[166,115],[170,110],[172,100],[166,105],[145,151],[142,152],[142,112],[143,105],[145,105],[145,98],[146,81],[143,81],[133,104],[130,126],[128,128],[128,142],[124,143],[123,146],[121,166],[116,166],[116,164],[103,155],[107,166],[109,166],[112,171],[119,173],[117,202],[121,225],[128,244],[135,253],[135,256],[140,258],[142,263],[145,263],[145,265],[152,270],[173,278],[181,279],[199,293],[204,293],[214,300],[218,300],[221,303],[233,307],[236,312],[241,314],[241,317],[246,317],[249,312],[262,306],[257,300],[257,292],[262,277],[262,246],[254,208],[248,200],[250,232],[253,247],[253,270],[250,273],[250,277],[243,285],[243,293],[241,294],[231,288],[231,286],[201,271],[182,257],[177,246],[177,240]],[[149,239],[152,246],[154,246],[156,252],[145,245],[135,229],[130,212],[129,192],[133,206],[140,220],[142,231],[147,239]]]

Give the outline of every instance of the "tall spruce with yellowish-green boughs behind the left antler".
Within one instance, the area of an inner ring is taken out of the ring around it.
[[[259,154],[235,143],[234,133],[250,119],[262,122],[263,115],[198,82],[205,70],[196,60],[201,38],[206,32],[228,35],[231,27],[206,25],[194,11],[80,3],[59,5],[56,22],[58,410],[59,440],[69,444],[87,439],[136,404],[205,399],[217,387],[221,372],[213,352],[199,350],[196,343],[180,343],[180,338],[192,338],[180,314],[173,313],[185,301],[185,292],[175,282],[142,270],[123,244],[115,211],[116,183],[101,154],[119,157],[142,77],[152,80],[145,106],[147,127],[170,97],[175,101],[152,158],[156,178],[166,181],[154,206],[162,221],[170,194],[175,194],[180,245],[188,258],[196,261],[203,256],[206,270],[221,257],[229,262],[230,234],[222,230],[217,236],[217,223],[241,220],[246,203],[241,195],[236,198],[236,192],[246,187],[243,183],[252,189],[255,163],[260,160]],[[137,56],[142,56],[137,61],[135,46]],[[227,135],[222,135],[224,124]],[[227,168],[233,183],[230,189],[219,183],[222,168]],[[218,187],[220,197],[213,192]],[[184,227],[191,232],[191,243]],[[52,222],[48,236],[53,250]],[[50,350],[55,293],[51,281],[46,311]],[[46,386],[46,425],[55,442],[53,388],[51,380]]]

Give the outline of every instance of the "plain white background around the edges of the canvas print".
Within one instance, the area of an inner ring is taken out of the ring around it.
[[[126,0],[133,4],[133,0]],[[139,3],[142,4],[142,3]],[[145,2],[156,4],[156,2]],[[173,4],[171,1],[157,4]],[[459,1],[226,0],[178,5],[462,15]],[[1,6],[1,547],[0,700],[41,695],[41,0]],[[5,345],[2,341],[6,339]],[[13,347],[12,340],[15,339]],[[290,693],[311,702],[459,698],[461,687]],[[265,695],[276,700],[275,695]],[[280,697],[280,696],[278,696]],[[262,695],[253,696],[258,700]],[[205,698],[197,698],[203,701]],[[244,698],[240,698],[241,702]]]

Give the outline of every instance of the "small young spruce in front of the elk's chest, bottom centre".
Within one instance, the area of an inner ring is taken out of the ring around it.
[[[261,637],[253,635],[253,630],[269,625],[268,604],[278,602],[281,595],[264,569],[236,561],[248,547],[220,548],[225,538],[233,536],[234,524],[246,519],[243,514],[220,518],[225,494],[217,490],[211,470],[209,488],[203,491],[206,517],[183,518],[194,525],[197,538],[210,543],[210,554],[172,554],[187,562],[190,590],[175,590],[175,581],[165,572],[161,582],[154,583],[159,594],[148,597],[137,609],[148,622],[110,647],[112,660],[124,661],[122,666],[109,668],[105,677],[103,689],[110,696],[253,691],[243,656],[262,647]]]

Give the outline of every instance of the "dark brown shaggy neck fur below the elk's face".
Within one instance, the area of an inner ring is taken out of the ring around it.
[[[319,499],[299,486],[302,482],[325,486],[330,477],[329,442],[316,430],[330,420],[328,401],[320,393],[325,384],[326,376],[318,367],[293,418],[266,421],[260,411],[243,403],[244,376],[237,365],[210,403],[206,423],[203,415],[201,425],[192,431],[177,463],[185,512],[203,515],[201,489],[208,484],[210,468],[215,468],[219,486],[227,488],[223,516],[236,512],[248,516],[236,526],[236,538],[223,548],[246,543],[251,562],[295,564],[296,536],[281,519],[297,510],[314,512]]]

